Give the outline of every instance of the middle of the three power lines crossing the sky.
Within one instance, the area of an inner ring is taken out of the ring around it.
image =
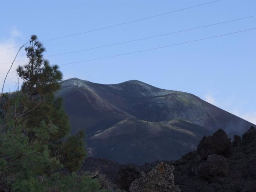
[[[98,47],[92,47],[92,48],[87,48],[87,49],[75,50],[75,51],[71,51],[71,52],[59,53],[59,54],[54,54],[54,55],[47,55],[47,56],[45,56],[44,58],[53,57],[53,56],[57,56],[57,55],[70,54],[70,53],[77,53],[77,52],[81,52],[81,51],[92,50],[92,49],[98,49],[98,48],[103,48],[103,47],[116,46],[116,45],[119,45],[119,44],[131,43],[131,42],[135,42],[135,41],[141,41],[141,40],[145,40],[145,39],[150,39],[150,38],[155,38],[155,37],[166,36],[166,35],[169,35],[169,34],[175,34],[175,33],[180,33],[180,32],[185,32],[185,31],[191,31],[191,30],[196,30],[196,29],[204,28],[204,27],[210,27],[210,26],[214,26],[214,25],[220,25],[220,24],[223,24],[223,23],[228,23],[228,22],[243,20],[243,19],[251,18],[251,17],[255,17],[255,16],[256,16],[256,15],[252,15],[252,16],[249,16],[249,17],[242,17],[242,18],[238,18],[238,19],[234,19],[234,20],[223,21],[223,22],[214,23],[214,24],[210,24],[210,25],[205,25],[205,26],[201,26],[201,27],[194,27],[194,28],[190,28],[190,29],[186,29],[186,30],[182,30],[182,31],[175,31],[175,32],[171,32],[171,33],[165,33],[165,34],[160,34],[160,35],[156,35],[156,36],[151,36],[151,37],[145,37],[145,38],[135,39],[135,40],[131,40],[131,41],[124,41],[124,42],[120,42],[120,43],[108,44],[108,45],[105,45],[105,46],[98,46]],[[25,59],[25,60],[18,60],[18,61],[16,61],[15,63],[17,63],[17,62],[23,62],[23,61],[27,61],[27,60],[28,60],[28,59]],[[12,63],[12,62],[0,63],[0,65],[9,64],[9,63]]]

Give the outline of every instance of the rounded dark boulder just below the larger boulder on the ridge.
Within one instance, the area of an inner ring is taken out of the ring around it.
[[[208,156],[207,161],[199,166],[198,171],[202,177],[215,182],[229,173],[229,165],[225,157],[214,154]]]

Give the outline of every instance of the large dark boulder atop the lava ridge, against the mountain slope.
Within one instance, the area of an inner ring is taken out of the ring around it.
[[[230,139],[223,129],[217,130],[212,136],[204,136],[197,146],[197,153],[206,160],[208,155],[223,155],[228,157],[230,151]]]

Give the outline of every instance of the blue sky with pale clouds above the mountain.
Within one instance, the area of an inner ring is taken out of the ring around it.
[[[17,46],[36,34],[46,47],[46,58],[60,65],[63,80],[140,80],[189,92],[256,124],[256,29],[249,30],[256,27],[256,1],[212,1],[0,0],[0,87],[6,75],[1,73],[9,70]],[[244,17],[249,18],[236,20]],[[236,21],[188,30],[230,20]],[[177,31],[183,32],[159,36]],[[233,34],[219,36],[228,33]],[[64,36],[69,37],[60,38]],[[159,37],[148,38],[153,36]],[[102,47],[142,38],[147,39]],[[203,40],[194,41],[198,39]],[[90,50],[47,57],[83,49]],[[152,50],[140,52],[147,49]],[[126,54],[131,52],[137,53]],[[110,57],[114,55],[119,56]],[[24,49],[16,58],[20,60],[26,60]],[[91,61],[80,62],[86,60]],[[73,64],[63,65],[67,63]],[[14,63],[11,72],[24,64]],[[17,82],[16,74],[10,73],[4,91],[17,90]]]

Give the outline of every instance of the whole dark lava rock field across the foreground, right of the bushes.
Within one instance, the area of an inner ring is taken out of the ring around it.
[[[102,179],[102,187],[124,191],[256,192],[256,129],[233,141],[224,130],[203,137],[197,150],[176,161],[118,164],[88,158],[82,171]]]

